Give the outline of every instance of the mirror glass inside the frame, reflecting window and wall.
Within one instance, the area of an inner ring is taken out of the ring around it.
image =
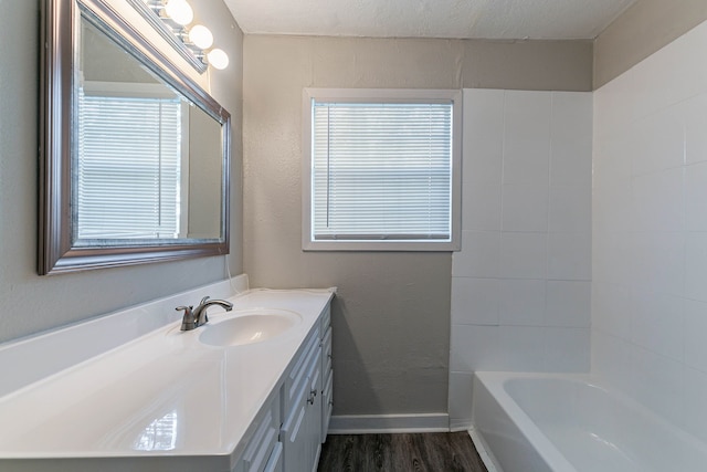
[[[75,244],[219,238],[220,124],[96,27],[81,24]],[[192,135],[200,147],[193,169]]]

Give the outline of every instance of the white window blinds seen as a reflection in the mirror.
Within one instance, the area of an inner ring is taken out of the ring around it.
[[[81,94],[80,106],[74,238],[177,238],[179,99]]]

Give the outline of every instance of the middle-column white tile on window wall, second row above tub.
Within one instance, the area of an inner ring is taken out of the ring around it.
[[[499,323],[542,326],[546,307],[545,284],[545,280],[530,279],[500,281]]]

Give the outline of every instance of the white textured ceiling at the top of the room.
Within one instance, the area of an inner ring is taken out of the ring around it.
[[[224,0],[246,34],[594,39],[637,0]]]

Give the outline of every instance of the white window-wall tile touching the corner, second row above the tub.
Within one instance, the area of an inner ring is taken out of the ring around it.
[[[585,327],[591,323],[591,283],[547,282],[545,326]]]

